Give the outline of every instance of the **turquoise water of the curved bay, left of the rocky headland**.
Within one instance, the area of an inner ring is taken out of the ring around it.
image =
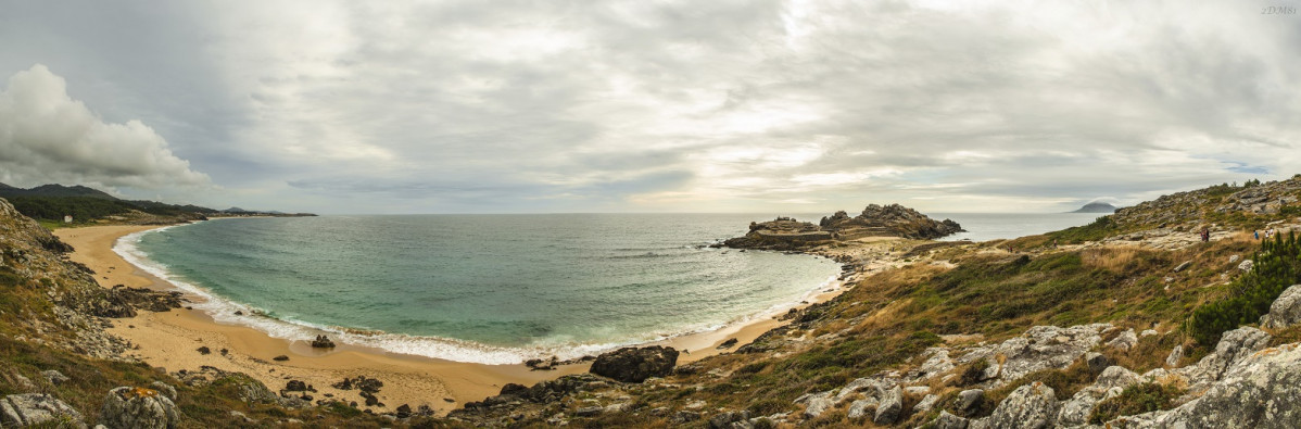
[[[701,248],[765,217],[235,218],[129,235],[118,252],[217,298],[200,307],[219,321],[500,364],[717,329],[827,286],[826,259]]]

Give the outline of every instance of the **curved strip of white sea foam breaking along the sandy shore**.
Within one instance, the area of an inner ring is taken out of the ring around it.
[[[641,338],[628,338],[622,342],[610,343],[550,343],[527,347],[500,347],[455,338],[384,333],[345,326],[328,326],[294,318],[269,317],[262,308],[232,302],[217,296],[202,286],[187,282],[183,278],[178,278],[169,272],[164,264],[154,261],[138,247],[138,243],[144,234],[160,233],[177,226],[183,225],[130,233],[117,239],[113,246],[113,251],[124,260],[152,274],[154,277],[164,280],[173,287],[200,298],[193,307],[203,311],[216,322],[248,326],[263,332],[272,338],[286,341],[310,341],[315,338],[315,335],[324,333],[345,344],[373,348],[382,352],[489,365],[520,364],[528,359],[545,359],[548,356],[557,356],[562,360],[569,360],[582,356],[598,355],[619,347],[639,344],[667,344],[684,350],[697,350],[697,354],[693,358],[700,359],[706,355],[716,354],[708,350],[712,348],[710,346],[716,342],[726,341],[727,338],[731,338],[730,335],[757,337],[753,330],[758,328],[766,328],[762,330],[775,328],[775,324],[766,322],[770,321],[773,316],[785,313],[790,308],[800,307],[809,302],[829,299],[829,296],[821,295],[826,295],[827,291],[839,291],[843,285],[837,276],[830,276],[817,286],[803,291],[799,296],[792,296],[790,300],[773,304],[761,312],[740,315],[723,324],[692,326],[680,332],[654,333]],[[749,326],[755,324],[758,324],[758,326]],[[719,338],[725,335],[729,337]],[[700,348],[706,348],[705,354],[700,354]]]

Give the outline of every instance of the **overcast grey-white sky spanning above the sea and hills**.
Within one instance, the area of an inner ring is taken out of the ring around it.
[[[1301,173],[1284,1],[0,0],[0,182],[320,213],[1058,212]]]

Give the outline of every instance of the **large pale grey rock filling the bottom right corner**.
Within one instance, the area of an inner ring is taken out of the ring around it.
[[[1296,428],[1301,421],[1301,344],[1266,348],[1235,363],[1206,394],[1174,410],[1107,422],[1111,428]]]

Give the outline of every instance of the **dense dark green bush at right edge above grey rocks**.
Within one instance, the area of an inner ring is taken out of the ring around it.
[[[1270,312],[1270,304],[1288,286],[1301,283],[1301,244],[1288,233],[1261,243],[1261,251],[1252,256],[1252,272],[1229,285],[1231,295],[1207,303],[1188,318],[1184,329],[1197,343],[1215,346],[1220,334],[1240,325],[1255,324]]]

